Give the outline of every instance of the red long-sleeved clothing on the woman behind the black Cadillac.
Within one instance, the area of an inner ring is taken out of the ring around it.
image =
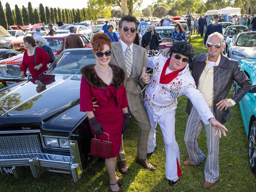
[[[35,54],[34,54],[35,55]],[[28,50],[24,52],[21,70],[26,72],[27,68],[30,70],[30,73],[32,77],[36,77],[43,72],[48,70],[47,64],[50,63],[50,56],[43,50],[41,47],[37,47],[36,49],[36,65],[39,65],[40,63],[43,64],[43,66],[39,70],[35,70],[35,60],[34,55],[28,56]]]

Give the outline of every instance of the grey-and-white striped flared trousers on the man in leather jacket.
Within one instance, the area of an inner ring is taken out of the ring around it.
[[[211,107],[211,112],[213,113],[213,106]],[[215,129],[211,127],[211,124],[205,125],[202,122],[197,109],[192,106],[187,120],[184,140],[187,146],[189,161],[193,165],[200,164],[205,159],[205,155],[202,150],[199,149],[197,143],[197,137],[202,130],[203,125],[206,129],[208,148],[208,155],[204,167],[204,177],[205,181],[215,183],[219,179],[219,136],[214,136]]]

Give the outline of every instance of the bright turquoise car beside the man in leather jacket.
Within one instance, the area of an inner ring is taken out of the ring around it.
[[[256,174],[256,59],[241,59],[239,66],[252,81],[252,88],[241,99],[239,107],[248,137],[250,169]],[[235,94],[239,86],[235,83],[233,88],[233,94]]]

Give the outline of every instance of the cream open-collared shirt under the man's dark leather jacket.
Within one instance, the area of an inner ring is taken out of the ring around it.
[[[221,54],[219,55],[215,65],[214,62],[208,61],[206,59],[206,66],[202,71],[202,74],[198,81],[197,89],[202,93],[204,96],[204,100],[206,103],[211,107],[213,105],[213,66],[218,66],[219,62],[221,61]],[[236,105],[236,102],[232,99],[228,99],[232,105]]]

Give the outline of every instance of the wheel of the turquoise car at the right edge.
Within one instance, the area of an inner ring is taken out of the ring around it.
[[[256,121],[252,122],[252,124],[250,125],[248,140],[250,170],[252,170],[252,172],[256,174]]]

